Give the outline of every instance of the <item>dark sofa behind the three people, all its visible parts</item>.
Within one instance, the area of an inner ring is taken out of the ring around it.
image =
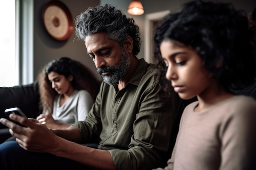
[[[240,95],[251,96],[256,99],[256,81],[252,86],[233,92]],[[7,118],[4,114],[5,109],[19,107],[27,117],[36,118],[42,112],[42,110],[39,109],[39,98],[38,82],[21,86],[0,87],[0,117]],[[183,104],[186,106],[195,100],[196,98],[186,100],[183,101]],[[177,135],[180,117],[181,114],[177,116],[175,121],[174,136]],[[0,123],[0,144],[9,137],[11,137],[9,129]],[[175,139],[175,137],[172,139]],[[171,146],[174,145],[174,142],[175,140],[171,141]]]

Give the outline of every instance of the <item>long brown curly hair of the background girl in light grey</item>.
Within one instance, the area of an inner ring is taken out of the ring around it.
[[[101,82],[94,77],[85,65],[68,57],[61,57],[44,66],[38,75],[40,109],[52,113],[54,99],[58,95],[48,79],[48,74],[51,72],[64,75],[65,77],[72,75],[72,86],[74,89],[86,90],[90,93],[92,99],[96,99]]]

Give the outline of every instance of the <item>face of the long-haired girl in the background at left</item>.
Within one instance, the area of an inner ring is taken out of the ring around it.
[[[64,75],[52,71],[48,74],[48,79],[52,83],[52,88],[60,95],[67,94],[70,89],[73,89],[71,84],[73,80],[72,75],[65,77]]]

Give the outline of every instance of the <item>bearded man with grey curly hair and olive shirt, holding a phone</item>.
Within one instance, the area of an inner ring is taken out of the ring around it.
[[[0,166],[10,170],[148,170],[160,166],[168,159],[180,99],[173,91],[165,97],[156,66],[137,58],[139,27],[106,4],[89,7],[77,16],[76,36],[85,42],[103,78],[88,117],[61,130],[17,115],[10,118],[27,128],[1,119],[17,142],[0,145]],[[88,147],[96,141],[96,148]]]

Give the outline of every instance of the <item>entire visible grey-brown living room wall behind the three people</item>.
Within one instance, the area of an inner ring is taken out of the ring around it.
[[[81,40],[77,40],[74,32],[71,37],[63,42],[52,39],[46,32],[42,20],[42,10],[44,5],[49,0],[34,0],[34,80],[41,70],[41,68],[49,61],[57,59],[59,57],[67,56],[74,60],[78,60],[88,66],[93,73],[96,74],[96,68],[94,63],[88,57],[84,43]],[[72,13],[74,19],[76,15],[79,15],[82,11],[87,9],[88,6],[95,6],[97,4],[114,4],[117,9],[120,9],[124,13],[131,2],[131,0],[61,0],[67,5]],[[171,12],[177,12],[180,6],[184,2],[189,0],[141,0],[144,6],[145,13],[139,16],[132,16],[135,19],[135,23],[139,25],[142,46],[138,55],[139,58],[144,57],[145,49],[145,20],[146,16],[150,13],[159,11],[170,10]],[[216,0],[217,1],[217,0]],[[236,9],[245,10],[245,12],[251,12],[256,7],[256,0],[218,0],[221,2],[231,2]],[[126,13],[127,14],[127,13]],[[127,14],[128,15],[128,14]],[[99,77],[100,79],[100,77]]]

